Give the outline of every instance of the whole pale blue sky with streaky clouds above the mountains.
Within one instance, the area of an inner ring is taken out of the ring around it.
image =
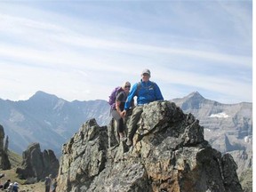
[[[144,68],[165,100],[252,102],[252,1],[0,1],[0,98],[108,100]]]

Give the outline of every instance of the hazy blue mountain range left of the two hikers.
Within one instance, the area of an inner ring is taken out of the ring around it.
[[[1,100],[0,124],[9,136],[9,148],[21,154],[31,142],[51,148],[56,155],[62,144],[81,124],[95,118],[100,125],[110,121],[106,100],[68,102],[46,92],[36,92],[29,100]]]

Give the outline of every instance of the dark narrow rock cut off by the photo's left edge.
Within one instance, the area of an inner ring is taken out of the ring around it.
[[[11,163],[7,152],[8,148],[4,148],[4,127],[0,124],[0,169],[2,170],[11,169]]]

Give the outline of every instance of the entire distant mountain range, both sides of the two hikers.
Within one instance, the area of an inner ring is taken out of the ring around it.
[[[199,92],[171,101],[184,113],[196,116],[204,126],[204,139],[220,152],[231,153],[239,169],[252,166],[252,103],[221,104],[205,99]],[[0,99],[0,124],[13,151],[21,154],[28,144],[39,142],[41,148],[51,148],[58,156],[62,144],[88,119],[108,125],[109,110],[106,100],[69,102],[36,92],[29,100]]]

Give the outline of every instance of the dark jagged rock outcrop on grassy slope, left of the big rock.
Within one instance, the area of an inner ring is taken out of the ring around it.
[[[20,179],[43,180],[49,174],[56,177],[59,170],[59,160],[51,149],[41,152],[39,143],[32,143],[22,154],[21,167],[16,169]]]

